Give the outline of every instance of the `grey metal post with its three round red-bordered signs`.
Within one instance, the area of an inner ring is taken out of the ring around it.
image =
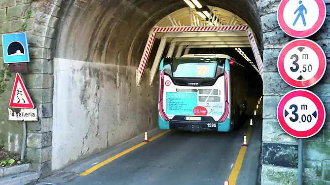
[[[326,14],[327,7],[324,0],[281,0],[277,9],[277,22],[287,35],[304,38],[315,34],[322,27]],[[316,42],[308,39],[295,39],[289,42],[281,50],[277,60],[282,79],[289,85],[300,88],[284,95],[277,108],[277,118],[281,127],[291,136],[299,138],[298,185],[303,183],[302,138],[312,137],[318,133],[326,117],[320,98],[302,88],[319,82],[325,74],[326,66],[324,51]],[[304,105],[301,105],[301,101]],[[287,105],[290,107],[286,107]],[[288,116],[290,111],[293,117]],[[305,125],[306,121],[307,125]]]

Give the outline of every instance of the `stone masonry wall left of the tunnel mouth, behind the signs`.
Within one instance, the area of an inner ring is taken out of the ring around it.
[[[53,61],[55,37],[63,15],[62,0],[0,0],[0,34],[27,32],[30,59],[28,74],[21,74],[38,109],[38,122],[27,123],[27,158],[34,170],[50,171],[53,112]],[[2,45],[0,46],[0,61]],[[2,62],[1,62],[2,63]],[[8,121],[10,94],[15,74],[0,96],[0,142],[10,151],[20,153],[23,129],[21,122]]]

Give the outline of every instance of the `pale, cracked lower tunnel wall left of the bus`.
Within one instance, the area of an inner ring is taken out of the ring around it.
[[[54,67],[52,170],[157,126],[158,83],[136,88],[136,68],[57,58]]]

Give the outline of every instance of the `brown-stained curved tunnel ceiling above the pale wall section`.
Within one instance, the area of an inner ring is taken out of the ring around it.
[[[233,12],[261,40],[255,0],[199,0]],[[187,7],[183,0],[66,1],[57,58],[137,67],[150,29],[170,13]],[[243,11],[244,10],[244,11]]]

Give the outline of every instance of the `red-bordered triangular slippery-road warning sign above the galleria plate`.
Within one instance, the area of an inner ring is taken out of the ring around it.
[[[13,92],[11,93],[9,107],[22,108],[22,109],[34,109],[30,95],[22,81],[21,76],[17,73],[14,83]]]

